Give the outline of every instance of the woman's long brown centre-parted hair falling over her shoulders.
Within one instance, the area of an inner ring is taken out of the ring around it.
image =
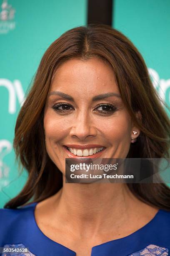
[[[21,169],[28,172],[28,180],[22,191],[5,204],[5,208],[40,202],[62,187],[62,173],[45,147],[44,106],[57,67],[72,58],[88,60],[92,57],[111,65],[125,107],[140,129],[140,136],[131,143],[127,158],[170,158],[170,120],[164,110],[168,106],[153,87],[139,51],[127,37],[110,26],[91,24],[73,28],[63,33],[45,52],[20,109],[13,146],[19,166],[21,164]],[[142,120],[136,118],[137,110],[140,110]],[[170,188],[165,183],[127,185],[141,201],[170,210]]]

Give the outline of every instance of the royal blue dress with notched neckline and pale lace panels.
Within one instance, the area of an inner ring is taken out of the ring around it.
[[[35,221],[34,202],[0,209],[0,247],[28,248],[29,253],[2,256],[75,256],[76,252],[45,236]],[[19,250],[19,249],[18,249]],[[23,249],[22,249],[23,250]],[[124,238],[92,247],[91,256],[170,256],[170,212],[159,210],[145,226]]]

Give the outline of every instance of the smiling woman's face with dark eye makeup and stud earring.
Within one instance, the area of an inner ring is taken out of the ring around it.
[[[126,158],[133,126],[111,67],[71,59],[55,72],[45,105],[47,153],[65,173],[65,158]],[[132,131],[137,131],[134,135]]]

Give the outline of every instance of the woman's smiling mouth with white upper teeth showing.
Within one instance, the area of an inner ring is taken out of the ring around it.
[[[67,146],[63,146],[64,148],[69,151],[72,156],[80,156],[80,157],[94,157],[95,155],[99,155],[100,152],[105,150],[105,147],[101,148],[85,148],[85,149],[80,149],[80,148],[68,148]]]

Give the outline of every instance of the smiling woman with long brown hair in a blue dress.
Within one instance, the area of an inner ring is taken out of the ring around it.
[[[38,256],[168,255],[166,184],[64,179],[66,158],[169,158],[169,146],[170,120],[128,38],[105,25],[67,31],[42,57],[18,115],[14,148],[28,181],[1,209],[0,246]]]

